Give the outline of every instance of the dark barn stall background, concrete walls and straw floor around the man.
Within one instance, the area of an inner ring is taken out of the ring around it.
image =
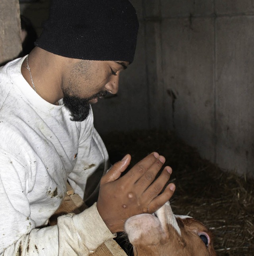
[[[119,93],[93,106],[112,162],[166,157],[175,213],[215,234],[218,255],[254,254],[254,6],[247,0],[132,0],[140,21]],[[37,34],[49,0],[2,0],[0,62],[21,50],[19,14]]]

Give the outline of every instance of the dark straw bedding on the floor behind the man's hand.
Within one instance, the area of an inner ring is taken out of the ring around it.
[[[171,133],[142,130],[102,138],[112,163],[126,153],[131,165],[152,151],[164,155],[177,187],[171,199],[174,213],[190,215],[211,229],[217,255],[254,255],[254,180],[221,171]]]

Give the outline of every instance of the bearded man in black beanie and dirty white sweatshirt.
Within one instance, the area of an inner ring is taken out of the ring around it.
[[[127,218],[152,213],[171,168],[154,152],[126,175],[130,155],[108,171],[90,103],[116,93],[133,61],[138,21],[128,0],[53,0],[32,52],[0,69],[0,255],[88,255],[123,231]],[[108,171],[108,172],[107,172]],[[101,181],[100,178],[102,177]],[[58,217],[67,180],[86,202]]]

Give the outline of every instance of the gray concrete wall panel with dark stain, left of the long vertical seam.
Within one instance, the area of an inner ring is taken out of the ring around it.
[[[171,97],[172,128],[214,161],[214,20],[162,21],[164,81]]]

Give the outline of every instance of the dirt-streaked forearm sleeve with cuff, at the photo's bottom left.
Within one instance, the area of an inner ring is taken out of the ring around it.
[[[86,256],[114,237],[115,234],[101,219],[95,203],[77,215],[69,213],[58,217],[55,226],[32,229],[2,251],[0,256]]]

